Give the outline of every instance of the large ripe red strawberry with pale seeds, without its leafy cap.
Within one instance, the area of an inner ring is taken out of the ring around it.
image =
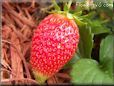
[[[31,66],[35,78],[44,82],[57,73],[74,55],[79,31],[74,20],[51,14],[41,21],[32,39]]]

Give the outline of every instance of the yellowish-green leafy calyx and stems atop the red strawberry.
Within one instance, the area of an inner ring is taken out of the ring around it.
[[[68,2],[66,2],[63,7],[63,11],[62,11],[61,8],[59,7],[59,5],[56,3],[56,0],[52,0],[52,4],[53,4],[55,10],[52,10],[49,13],[63,14],[69,19],[74,19],[75,22],[77,23],[77,25],[79,25],[79,26],[86,25],[86,23],[82,22],[81,18],[79,17],[79,14],[81,15],[81,13],[79,13],[79,12],[72,13],[71,12],[72,2],[73,2],[73,0],[69,0]]]

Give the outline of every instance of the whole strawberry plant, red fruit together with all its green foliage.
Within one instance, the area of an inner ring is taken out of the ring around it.
[[[89,0],[80,2],[82,5],[88,3]],[[91,3],[97,4],[95,1]],[[114,18],[112,6],[103,7],[104,3],[101,2],[99,9],[90,4],[71,9],[70,0],[62,11],[53,0],[55,10],[40,22],[32,38],[30,63],[38,82],[44,83],[60,69],[72,66],[72,83],[113,83]],[[100,36],[99,55],[94,56],[95,37]]]

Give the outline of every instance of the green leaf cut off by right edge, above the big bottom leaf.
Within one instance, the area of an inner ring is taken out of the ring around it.
[[[104,71],[113,76],[114,63],[114,35],[109,35],[102,40],[100,45],[100,63]]]

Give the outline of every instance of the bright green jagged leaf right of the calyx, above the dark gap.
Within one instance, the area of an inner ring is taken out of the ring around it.
[[[89,13],[91,14],[91,13]],[[88,14],[88,15],[89,15]],[[91,19],[88,15],[84,15],[81,18],[83,19],[83,22],[86,22],[87,25],[91,28],[91,32],[95,35],[101,34],[101,33],[110,33],[110,28],[107,28],[107,21],[106,20],[100,20],[100,19],[94,19],[94,15],[91,15]]]

